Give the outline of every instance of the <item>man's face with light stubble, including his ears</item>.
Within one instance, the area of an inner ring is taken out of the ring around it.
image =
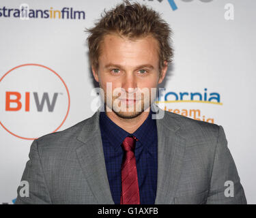
[[[152,36],[129,40],[111,34],[104,36],[100,48],[98,71],[92,69],[104,90],[106,110],[111,108],[122,118],[139,116],[152,104],[155,95],[151,90],[162,82],[167,71],[166,63],[160,77],[158,42]],[[111,89],[106,88],[107,82]]]

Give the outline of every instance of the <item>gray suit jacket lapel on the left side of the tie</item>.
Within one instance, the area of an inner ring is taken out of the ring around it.
[[[106,174],[99,116],[98,111],[83,126],[77,137],[77,140],[83,142],[83,146],[76,149],[76,154],[98,204],[114,204]]]

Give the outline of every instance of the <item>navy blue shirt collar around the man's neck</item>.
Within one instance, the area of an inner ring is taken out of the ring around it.
[[[124,139],[128,136],[135,136],[141,142],[138,146],[145,147],[150,151],[149,145],[152,144],[149,142],[150,135],[156,134],[156,120],[152,119],[152,110],[150,108],[150,113],[147,116],[147,119],[143,124],[134,131],[133,134],[129,134],[127,131],[116,125],[108,116],[106,112],[100,112],[100,131],[103,133],[103,136],[107,136],[107,140],[114,147],[115,151],[120,151],[121,144]],[[135,149],[138,149],[136,146]]]

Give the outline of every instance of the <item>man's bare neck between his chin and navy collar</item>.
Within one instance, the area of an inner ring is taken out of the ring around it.
[[[150,108],[149,108],[150,109]],[[106,116],[111,119],[116,125],[127,131],[129,134],[133,134],[134,131],[136,131],[147,119],[148,114],[150,113],[150,110],[148,111],[143,111],[139,116],[136,116],[131,119],[127,118],[122,118],[115,114],[115,112],[111,111],[108,112],[106,111]]]

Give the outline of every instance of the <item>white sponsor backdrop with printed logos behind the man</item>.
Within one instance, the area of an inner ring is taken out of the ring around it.
[[[0,204],[14,203],[33,139],[94,114],[85,28],[120,2],[0,1]],[[248,203],[256,204],[256,1],[139,2],[173,30],[159,106],[224,127]]]

